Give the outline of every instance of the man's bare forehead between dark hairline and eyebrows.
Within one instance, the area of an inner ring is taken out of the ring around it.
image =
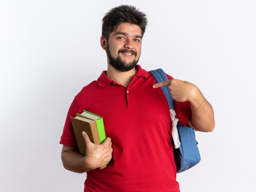
[[[142,34],[141,28],[138,25],[127,22],[121,23],[111,34],[115,35],[116,33],[127,33],[131,36],[141,36]]]

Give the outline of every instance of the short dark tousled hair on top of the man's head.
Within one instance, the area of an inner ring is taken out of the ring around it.
[[[103,17],[101,35],[108,39],[110,33],[117,29],[117,27],[123,22],[138,25],[141,28],[141,36],[143,36],[148,20],[146,18],[146,14],[139,11],[136,7],[122,4],[118,7],[112,8]]]

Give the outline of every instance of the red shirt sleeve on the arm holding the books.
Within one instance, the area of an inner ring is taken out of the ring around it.
[[[70,117],[75,117],[76,113],[82,113],[82,112],[83,110],[80,109],[79,104],[77,103],[76,99],[74,99],[70,105],[70,109],[67,112],[67,118],[63,128],[63,133],[61,135],[60,144],[77,147],[76,137],[73,131]]]

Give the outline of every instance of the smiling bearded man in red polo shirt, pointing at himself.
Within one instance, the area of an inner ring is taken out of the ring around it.
[[[168,85],[180,124],[202,132],[214,128],[213,109],[195,85],[171,76],[156,83],[137,65],[146,24],[146,15],[132,6],[121,5],[106,13],[100,42],[108,70],[83,87],[68,111],[61,158],[67,170],[87,172],[86,192],[180,191],[170,142],[170,112],[157,87]],[[79,154],[70,121],[83,109],[103,116],[108,136],[95,145],[82,132],[85,156]],[[97,169],[109,161],[108,167]]]

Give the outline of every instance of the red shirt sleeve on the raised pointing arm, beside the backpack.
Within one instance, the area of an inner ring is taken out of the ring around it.
[[[166,74],[166,76],[168,79],[173,79],[173,77],[168,74]],[[177,102],[174,100],[174,109],[176,111],[176,118],[179,119],[179,124],[186,126],[186,123],[192,114],[189,101]]]

